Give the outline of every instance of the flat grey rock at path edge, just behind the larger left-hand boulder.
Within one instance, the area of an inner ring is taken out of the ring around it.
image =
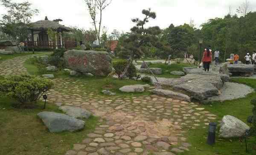
[[[68,116],[71,116],[73,118],[88,119],[91,116],[89,111],[78,108],[78,107],[62,106],[62,107],[59,107],[59,109],[64,111]]]

